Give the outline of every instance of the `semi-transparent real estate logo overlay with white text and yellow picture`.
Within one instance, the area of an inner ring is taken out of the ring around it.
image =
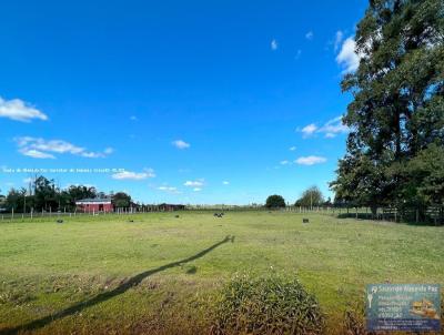
[[[440,288],[436,284],[367,285],[367,331],[440,332]]]

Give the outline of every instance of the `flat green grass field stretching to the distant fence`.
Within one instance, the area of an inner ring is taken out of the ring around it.
[[[223,283],[278,272],[317,296],[339,334],[367,283],[444,285],[444,227],[212,214],[0,223],[0,333],[208,332],[211,294]]]

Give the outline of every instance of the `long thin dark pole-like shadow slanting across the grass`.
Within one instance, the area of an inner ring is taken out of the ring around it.
[[[195,260],[198,260],[200,257],[203,257],[204,255],[206,255],[208,253],[212,252],[218,246],[220,246],[220,245],[222,245],[224,243],[228,243],[228,242],[234,242],[234,236],[230,236],[229,235],[224,240],[213,244],[212,246],[210,246],[210,247],[201,251],[200,253],[198,253],[198,254],[195,254],[193,256],[190,256],[188,258],[184,258],[184,260],[181,260],[181,261],[176,261],[176,262],[173,262],[173,263],[169,263],[169,264],[162,265],[160,267],[142,272],[142,273],[131,277],[130,280],[128,280],[127,282],[124,282],[123,284],[119,285],[118,287],[115,287],[112,291],[101,293],[101,294],[97,295],[95,297],[93,297],[93,298],[91,298],[89,301],[78,303],[78,304],[72,305],[71,307],[68,307],[68,308],[65,308],[63,311],[60,311],[60,312],[58,312],[56,314],[48,315],[46,317],[32,321],[30,323],[27,323],[24,325],[20,325],[20,326],[14,327],[14,328],[0,329],[0,334],[17,334],[19,332],[34,331],[34,329],[44,327],[46,325],[50,324],[51,322],[54,322],[57,319],[60,319],[60,318],[63,318],[63,317],[67,317],[67,316],[70,316],[70,315],[73,315],[73,314],[75,314],[78,312],[83,311],[84,308],[94,306],[94,305],[100,304],[102,302],[105,302],[105,301],[108,301],[108,300],[110,300],[110,298],[112,298],[114,296],[118,296],[118,295],[120,295],[122,293],[125,293],[131,287],[139,285],[144,278],[147,278],[147,277],[149,277],[149,276],[151,276],[151,275],[153,275],[155,273],[159,273],[159,272],[162,272],[162,271],[175,267],[175,266],[180,266],[180,265],[182,265],[184,263],[189,263],[189,262],[195,261]]]

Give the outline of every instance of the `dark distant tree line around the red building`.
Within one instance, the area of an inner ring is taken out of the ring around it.
[[[29,189],[10,189],[8,194],[0,195],[0,209],[6,212],[29,213],[33,211],[74,211],[75,201],[82,199],[111,199],[115,207],[137,206],[131,196],[124,192],[105,194],[93,186],[71,185],[60,189],[53,180],[38,176]]]

